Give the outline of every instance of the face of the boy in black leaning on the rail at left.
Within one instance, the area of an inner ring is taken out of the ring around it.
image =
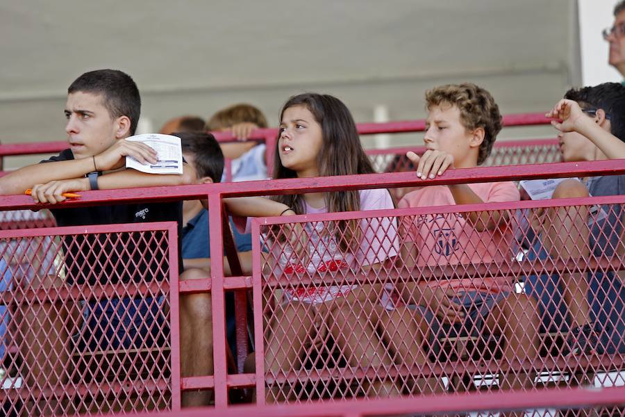
[[[67,142],[74,158],[90,158],[111,147],[119,125],[110,116],[101,95],[73,92],[65,104]]]

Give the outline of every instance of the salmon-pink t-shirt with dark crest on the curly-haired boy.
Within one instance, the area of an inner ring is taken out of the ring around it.
[[[510,181],[469,184],[469,187],[483,202],[512,202],[520,199],[519,190]],[[408,193],[398,206],[405,208],[455,204],[447,186],[428,186]],[[512,221],[501,224],[492,231],[480,232],[457,213],[407,216],[403,220],[407,231],[404,240],[415,243],[418,252],[416,263],[422,267],[509,261],[513,256]],[[431,281],[428,285],[451,286],[458,291],[499,293],[510,291],[512,280],[497,277],[497,272],[493,271],[490,277],[438,280]]]

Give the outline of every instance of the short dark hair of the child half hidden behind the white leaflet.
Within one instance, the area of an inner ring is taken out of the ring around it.
[[[183,154],[193,155],[198,178],[210,177],[215,183],[222,181],[224,154],[215,136],[203,132],[176,132],[172,135],[181,139]]]

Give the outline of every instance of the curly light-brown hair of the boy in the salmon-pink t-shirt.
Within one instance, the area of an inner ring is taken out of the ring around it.
[[[474,83],[440,85],[426,91],[426,108],[449,104],[458,107],[460,122],[465,129],[484,129],[485,135],[478,152],[478,165],[486,161],[492,144],[501,131],[501,113],[490,92]]]

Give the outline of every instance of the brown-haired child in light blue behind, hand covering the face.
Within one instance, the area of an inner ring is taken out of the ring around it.
[[[206,124],[208,131],[232,131],[242,142],[222,143],[224,158],[231,159],[232,181],[267,179],[265,143],[247,141],[255,129],[267,127],[263,112],[250,104],[235,104],[218,111]]]

